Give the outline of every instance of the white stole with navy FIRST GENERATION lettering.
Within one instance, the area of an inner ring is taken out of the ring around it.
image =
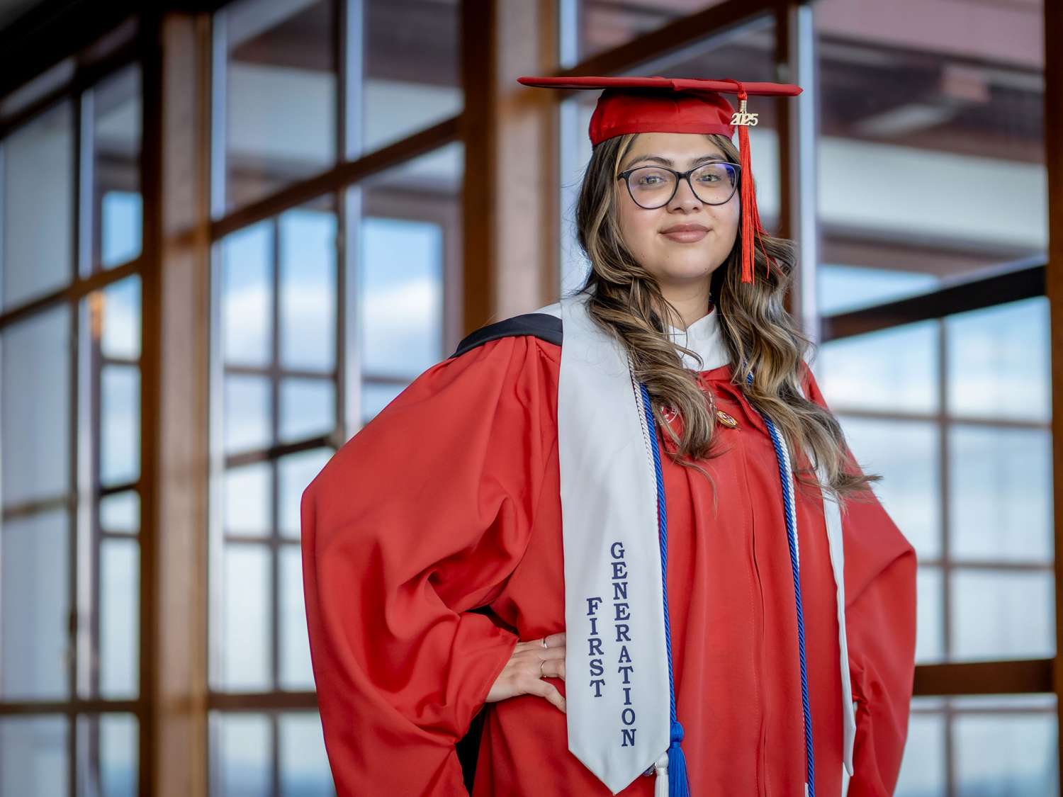
[[[560,318],[563,329],[557,426],[569,750],[617,794],[654,766],[670,743],[657,487],[648,448],[657,443],[648,438],[627,353],[590,318],[588,299],[584,293],[562,298],[535,312]],[[686,332],[673,327],[672,336],[703,359],[698,366],[680,353],[687,368],[711,370],[730,360],[716,309]],[[822,469],[817,475],[822,482]],[[856,717],[842,520],[837,502],[826,493],[823,502],[838,605],[845,797]],[[784,528],[779,539],[784,544]],[[796,706],[799,710],[799,699]],[[804,748],[804,739],[794,744]],[[684,749],[688,758],[712,754]]]

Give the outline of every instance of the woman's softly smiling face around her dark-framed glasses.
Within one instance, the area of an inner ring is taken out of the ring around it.
[[[684,172],[707,158],[727,160],[704,134],[642,133],[628,148],[620,171],[636,165],[663,165]],[[739,191],[722,205],[709,205],[682,180],[667,205],[647,210],[635,203],[624,181],[618,180],[615,188],[621,235],[642,267],[657,278],[663,290],[707,290],[710,275],[735,247],[741,209]],[[665,235],[670,227],[684,224],[699,225],[705,233]]]

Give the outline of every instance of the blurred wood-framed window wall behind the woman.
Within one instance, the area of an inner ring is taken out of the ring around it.
[[[897,794],[1059,793],[1061,37],[1061,0],[0,0],[0,795],[333,793],[299,499],[580,279],[596,92],[514,81],[562,71],[805,86],[754,169],[919,555]]]

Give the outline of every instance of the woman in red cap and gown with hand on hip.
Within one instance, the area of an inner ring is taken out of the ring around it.
[[[521,82],[606,88],[591,271],[469,336],[303,495],[339,793],[463,794],[476,717],[474,795],[892,794],[914,552],[805,364],[793,249],[729,137],[748,94],[799,89]]]

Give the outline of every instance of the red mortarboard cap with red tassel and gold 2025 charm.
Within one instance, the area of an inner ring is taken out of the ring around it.
[[[757,213],[749,167],[749,128],[757,114],[746,112],[749,95],[794,97],[800,86],[790,83],[742,83],[740,81],[698,80],[695,78],[536,78],[517,79],[525,86],[542,88],[598,88],[591,116],[591,145],[624,133],[721,133],[735,134],[738,128],[742,167],[742,282],[753,282],[753,239],[760,239],[763,227]],[[721,92],[738,97],[738,112]],[[763,244],[761,244],[763,251]],[[764,252],[769,265],[772,258]]]

